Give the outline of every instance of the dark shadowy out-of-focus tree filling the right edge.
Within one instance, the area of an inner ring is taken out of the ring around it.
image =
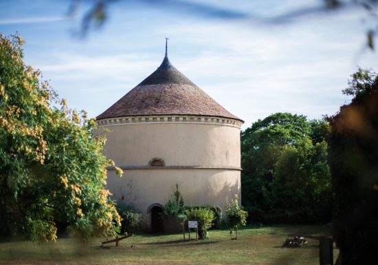
[[[362,69],[351,77],[352,102],[329,118],[333,237],[338,264],[378,264],[378,77]]]

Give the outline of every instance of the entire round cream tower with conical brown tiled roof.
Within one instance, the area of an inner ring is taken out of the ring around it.
[[[151,230],[175,191],[185,204],[216,204],[241,195],[243,120],[194,85],[164,57],[153,74],[97,117],[104,154],[124,176],[108,171],[116,200],[132,203]],[[102,130],[102,129],[108,129]]]

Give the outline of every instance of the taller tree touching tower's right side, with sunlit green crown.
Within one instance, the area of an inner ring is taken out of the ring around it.
[[[308,133],[306,118],[289,113],[272,114],[241,132],[242,204],[250,216],[260,220],[268,209],[263,188],[269,189],[282,147]]]

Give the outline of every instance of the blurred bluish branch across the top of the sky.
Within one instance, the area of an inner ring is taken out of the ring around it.
[[[87,36],[92,28],[100,28],[109,17],[108,7],[122,0],[71,0],[69,6],[69,15],[75,14],[80,6],[89,3],[86,12],[82,15],[80,25],[80,36]],[[169,10],[171,12],[181,12],[197,17],[206,17],[209,19],[223,20],[240,20],[251,23],[282,24],[290,23],[298,19],[304,19],[313,14],[330,14],[330,12],[366,10],[366,21],[372,21],[371,26],[364,33],[366,34],[365,47],[375,50],[375,36],[378,32],[377,6],[378,0],[319,0],[318,6],[304,6],[289,10],[282,14],[272,17],[261,17],[254,14],[251,10],[244,12],[232,10],[231,8],[221,8],[219,6],[207,3],[198,3],[194,1],[177,1],[177,0],[129,0],[124,1],[129,5],[144,4],[157,9]]]

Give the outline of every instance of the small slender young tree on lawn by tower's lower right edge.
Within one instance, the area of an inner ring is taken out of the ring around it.
[[[225,217],[227,225],[230,228],[230,235],[235,233],[235,239],[238,239],[238,228],[247,224],[247,211],[238,205],[238,195],[235,194],[231,202],[225,201]]]

